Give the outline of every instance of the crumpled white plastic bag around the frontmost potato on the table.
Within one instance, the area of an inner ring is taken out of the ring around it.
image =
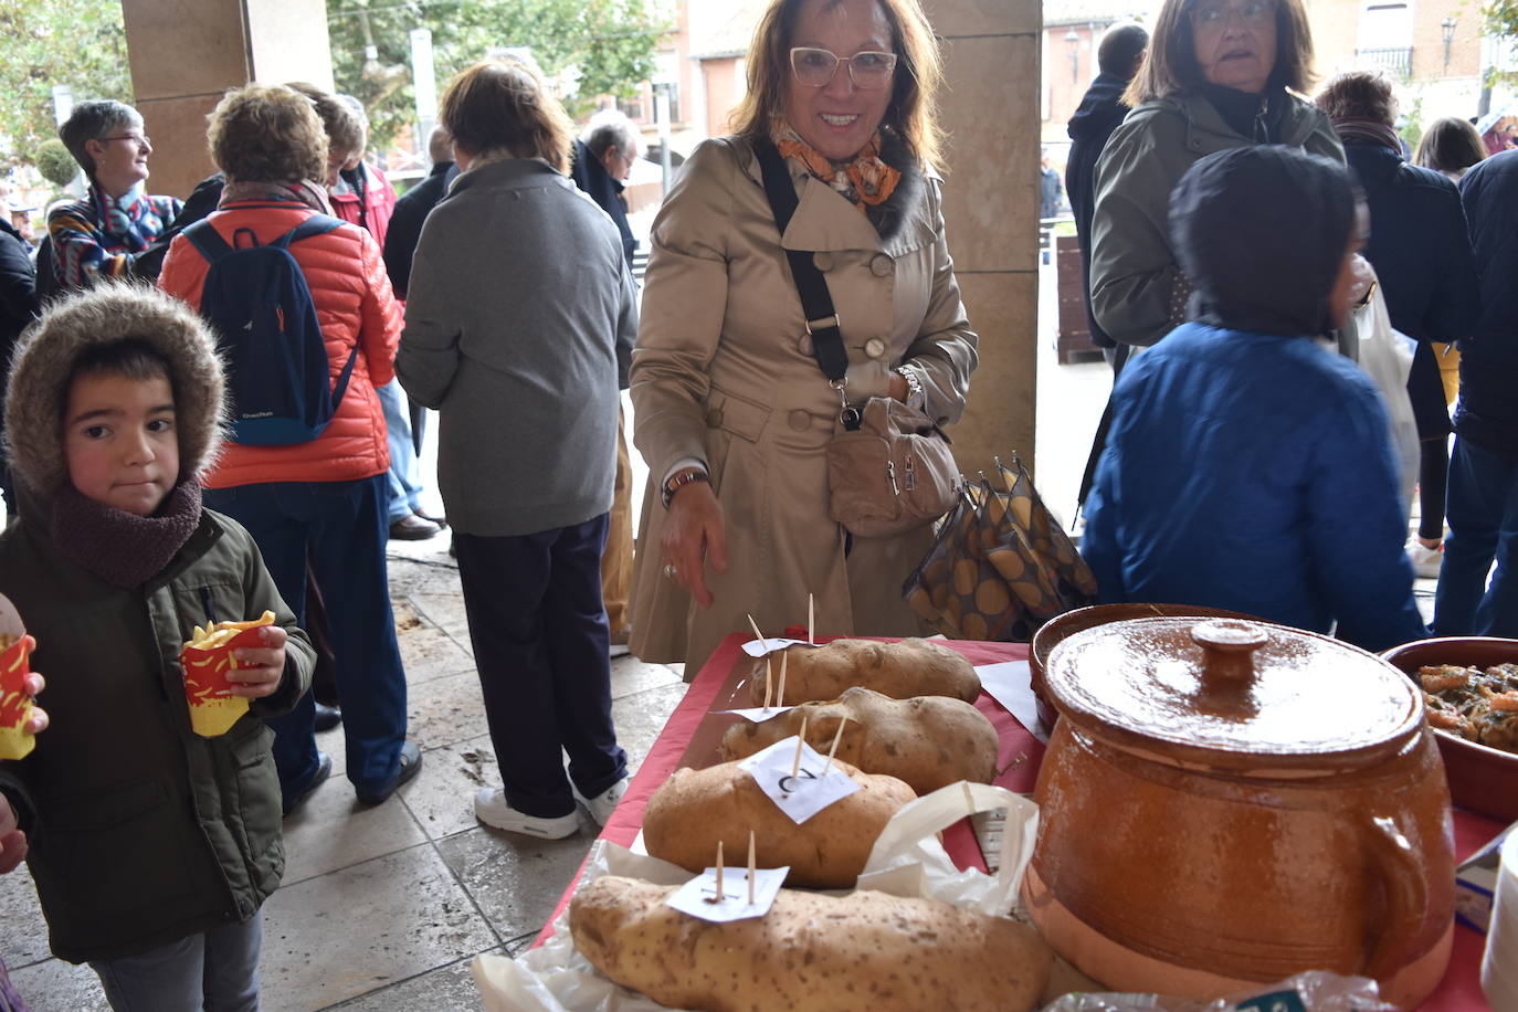
[[[967,815],[1002,809],[1000,869],[993,875],[959,871],[935,834]],[[1006,913],[1038,833],[1038,806],[1003,787],[956,783],[905,806],[882,830],[856,888],[899,897],[927,897],[985,913]],[[680,885],[691,872],[669,862],[597,841],[581,883],[601,875],[628,875]],[[569,910],[554,921],[540,948],[518,959],[475,956],[471,966],[486,1012],[666,1012],[665,1006],[621,988],[597,971],[569,936]]]

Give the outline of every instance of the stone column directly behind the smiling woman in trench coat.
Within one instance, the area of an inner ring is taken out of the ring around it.
[[[965,473],[991,457],[1032,466],[1038,360],[1038,0],[924,0],[943,39],[949,252],[981,367],[953,426]]]

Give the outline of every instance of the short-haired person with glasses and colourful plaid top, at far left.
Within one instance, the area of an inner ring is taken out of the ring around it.
[[[182,206],[178,197],[143,193],[153,153],[143,117],[109,99],[80,102],[58,137],[85,170],[90,188],[83,200],[47,214],[52,284],[67,291],[96,278],[124,278]]]

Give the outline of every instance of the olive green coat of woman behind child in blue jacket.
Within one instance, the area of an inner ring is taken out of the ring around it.
[[[1328,117],[1296,96],[1286,96],[1280,137],[1343,164]],[[1154,344],[1179,322],[1170,311],[1179,275],[1170,250],[1170,191],[1202,156],[1252,143],[1195,93],[1145,102],[1113,130],[1096,162],[1091,311],[1114,341]]]

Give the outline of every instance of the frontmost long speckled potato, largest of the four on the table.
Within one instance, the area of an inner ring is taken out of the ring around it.
[[[1052,954],[1026,924],[938,900],[782,889],[770,913],[712,924],[674,892],[604,875],[569,903],[575,948],[616,983],[697,1012],[1028,1012]]]

